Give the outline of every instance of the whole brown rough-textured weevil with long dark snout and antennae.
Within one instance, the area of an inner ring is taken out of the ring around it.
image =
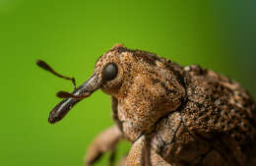
[[[54,75],[43,61],[37,65]],[[96,89],[111,96],[115,125],[96,137],[86,155],[93,165],[124,138],[126,166],[255,166],[256,104],[239,83],[200,66],[181,67],[156,54],[114,45],[96,61],[92,77],[49,115],[60,121]]]

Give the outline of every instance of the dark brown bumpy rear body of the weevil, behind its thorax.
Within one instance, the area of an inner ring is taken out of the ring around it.
[[[251,96],[199,66],[185,67],[184,75],[186,100],[157,125],[155,149],[174,165],[256,165]]]

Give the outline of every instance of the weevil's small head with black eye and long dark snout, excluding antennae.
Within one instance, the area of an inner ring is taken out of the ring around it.
[[[50,112],[49,123],[53,124],[60,121],[76,103],[90,96],[98,88],[108,94],[118,93],[118,87],[122,84],[124,74],[120,54],[125,50],[127,50],[126,47],[117,44],[100,56],[96,61],[92,77],[72,92],[72,95],[77,96],[77,98],[70,96],[57,104]]]

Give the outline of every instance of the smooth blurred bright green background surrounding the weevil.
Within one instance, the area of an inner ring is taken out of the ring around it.
[[[37,68],[43,59],[78,84],[115,43],[200,64],[256,95],[255,1],[0,0],[0,165],[82,165],[96,134],[110,125],[100,90],[56,125],[48,113],[72,84]],[[119,156],[129,144],[122,142]],[[109,155],[109,154],[108,154]],[[96,165],[106,165],[107,155]]]

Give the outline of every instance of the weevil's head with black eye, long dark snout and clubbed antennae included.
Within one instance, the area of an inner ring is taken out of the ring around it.
[[[45,62],[41,60],[36,61],[36,64],[39,67],[59,78],[72,81],[75,86],[72,93],[65,91],[60,91],[57,93],[58,97],[65,99],[63,99],[51,110],[48,118],[49,123],[54,124],[62,120],[75,104],[77,104],[83,98],[90,96],[94,91],[96,91],[96,89],[101,88],[103,91],[108,92],[107,90],[111,91],[111,87],[115,87],[116,84],[121,82],[122,69],[118,68],[120,67],[120,61],[118,58],[119,56],[116,56],[118,55],[118,50],[115,48],[116,47],[111,50],[112,52],[107,52],[96,61],[96,68],[92,77],[77,88],[74,78],[60,75]],[[124,47],[120,47],[120,45],[118,45],[118,48]]]

